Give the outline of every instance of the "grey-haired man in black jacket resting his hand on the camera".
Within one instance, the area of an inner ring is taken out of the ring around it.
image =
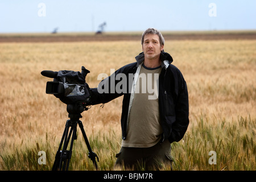
[[[183,75],[163,50],[162,34],[148,28],[141,43],[143,52],[135,63],[119,68],[91,89],[91,104],[123,95],[122,147],[116,164],[159,169],[163,163],[171,163],[171,143],[183,138],[187,130],[188,91]]]

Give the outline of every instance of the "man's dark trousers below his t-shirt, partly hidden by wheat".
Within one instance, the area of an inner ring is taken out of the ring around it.
[[[165,140],[148,148],[121,147],[115,165],[134,170],[159,170],[172,163],[171,144]]]

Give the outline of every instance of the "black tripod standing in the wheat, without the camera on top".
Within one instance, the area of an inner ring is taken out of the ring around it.
[[[86,134],[84,131],[84,126],[82,125],[82,122],[79,120],[79,118],[82,118],[82,115],[80,113],[82,113],[82,111],[84,111],[84,110],[88,110],[88,108],[82,106],[82,104],[67,105],[67,111],[69,113],[68,117],[70,119],[68,119],[66,122],[64,133],[63,133],[63,136],[60,141],[60,146],[56,152],[55,161],[53,163],[52,171],[56,171],[56,170],[68,171],[69,162],[70,162],[70,159],[72,156],[73,142],[74,142],[74,140],[77,139],[77,135],[76,135],[77,123],[79,124],[79,127],[82,131],[82,136],[84,137],[86,146],[89,151],[88,157],[90,160],[92,160],[94,167],[97,170],[98,166],[97,166],[95,158],[97,158],[97,160],[98,160],[98,156],[97,156],[97,154],[95,154],[92,151],[92,148],[90,148],[88,138],[86,137]],[[71,127],[70,130],[69,130],[69,127]],[[72,138],[71,138],[71,135],[72,135]],[[70,139],[71,139],[71,142],[69,145],[69,150],[67,150]],[[62,146],[63,146],[63,148],[61,150]]]

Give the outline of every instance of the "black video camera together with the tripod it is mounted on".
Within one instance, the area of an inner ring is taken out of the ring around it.
[[[63,137],[61,138],[59,149],[56,152],[52,170],[68,170],[73,142],[77,139],[77,124],[82,131],[82,136],[88,147],[88,157],[92,160],[97,169],[96,159],[98,160],[98,156],[92,151],[84,131],[84,126],[79,120],[79,118],[82,118],[82,111],[89,109],[86,104],[90,102],[91,92],[88,84],[85,82],[85,77],[88,73],[90,73],[90,71],[83,66],[81,73],[67,70],[59,72],[45,70],[41,72],[43,76],[53,78],[53,81],[48,81],[46,84],[46,93],[53,94],[55,97],[59,98],[60,101],[67,104],[68,117],[70,118],[65,125]],[[70,130],[69,127],[71,127]]]

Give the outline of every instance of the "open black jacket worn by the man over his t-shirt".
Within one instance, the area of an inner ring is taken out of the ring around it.
[[[122,79],[114,80],[114,84],[110,84],[110,77],[105,78],[99,84],[102,88],[108,86],[108,93],[99,93],[97,88],[92,88],[91,101],[92,105],[106,103],[112,101],[114,98],[123,95],[122,102],[122,115],[121,115],[121,127],[122,127],[122,139],[126,139],[127,131],[127,118],[129,112],[129,102],[131,96],[131,84],[133,78],[129,75],[134,74],[137,71],[139,64],[144,61],[143,52],[135,57],[137,62],[127,64],[122,68],[119,68],[113,73],[112,76],[117,76],[122,73],[127,78],[127,85],[125,91],[118,93],[113,92],[113,86],[116,86],[118,82]],[[183,138],[185,131],[189,124],[188,118],[188,90],[187,84],[183,78],[183,75],[174,65],[172,65],[172,57],[166,53],[162,52],[160,55],[160,60],[162,61],[162,71],[159,75],[159,112],[161,126],[163,129],[163,139],[167,139],[172,142],[179,142]],[[130,87],[129,87],[130,86]],[[110,92],[112,89],[112,92]]]

